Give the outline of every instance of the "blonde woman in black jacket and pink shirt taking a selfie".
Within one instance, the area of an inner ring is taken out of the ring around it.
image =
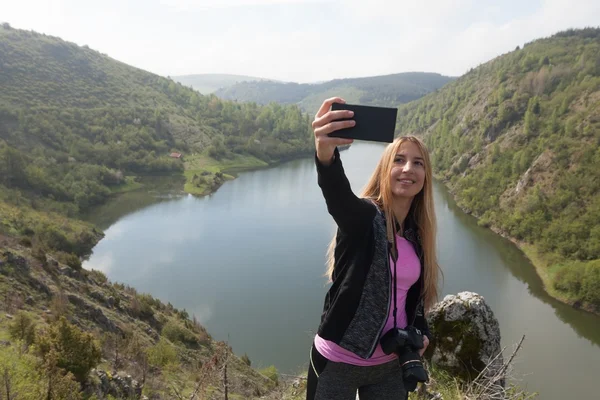
[[[331,111],[334,102],[344,100],[326,100],[312,124],[318,184],[338,229],[307,399],[354,400],[357,390],[361,400],[405,399],[398,354],[384,352],[381,339],[395,327],[414,326],[423,335],[418,358],[431,339],[424,310],[437,299],[439,267],[429,155],[415,137],[396,139],[357,197],[337,149],[352,140],[329,136],[353,126],[346,120],[353,113]]]

